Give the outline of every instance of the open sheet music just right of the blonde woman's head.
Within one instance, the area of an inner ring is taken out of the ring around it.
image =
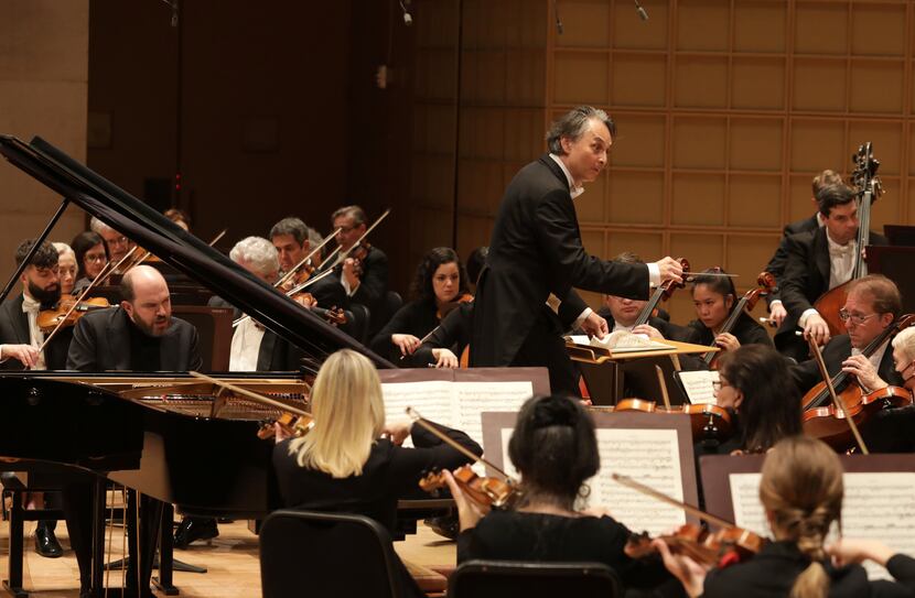
[[[534,384],[529,380],[388,382],[381,384],[381,392],[388,421],[403,421],[407,407],[411,406],[424,418],[460,430],[482,445],[480,414],[484,411],[519,411],[534,395]]]

